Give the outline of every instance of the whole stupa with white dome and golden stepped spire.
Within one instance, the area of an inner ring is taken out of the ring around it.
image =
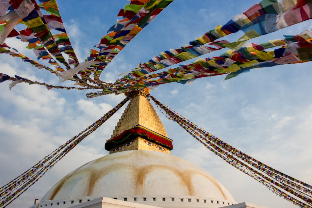
[[[131,100],[105,144],[109,155],[66,175],[30,208],[235,206],[215,178],[170,155],[172,140],[148,94],[126,94]]]

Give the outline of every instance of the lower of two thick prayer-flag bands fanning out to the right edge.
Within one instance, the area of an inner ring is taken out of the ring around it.
[[[181,84],[189,84],[191,81],[209,76],[228,74],[225,79],[230,79],[242,72],[249,71],[254,68],[272,67],[275,65],[295,64],[309,61],[309,53],[298,50],[299,48],[309,48],[312,32],[306,30],[295,36],[287,36],[292,41],[275,39],[262,44],[246,43],[237,51],[232,49],[227,50],[220,56],[212,58],[198,59],[191,64],[180,65],[168,70],[157,70],[154,73],[141,73],[141,70],[136,70],[126,75],[124,78],[117,80],[113,85],[107,86],[102,91],[96,93],[88,93],[87,97],[92,98],[104,94],[120,94],[127,91],[143,89],[145,87],[153,87],[170,82],[178,82]],[[307,38],[307,40],[304,39]],[[217,42],[215,45],[219,47],[234,47],[236,44],[227,42]],[[240,44],[240,43],[238,43]],[[274,50],[266,51],[272,47],[278,47]],[[235,47],[234,47],[235,48]],[[306,56],[304,60],[301,56]],[[309,50],[306,50],[309,51]],[[168,53],[163,57],[169,57]],[[312,56],[310,56],[312,59]],[[145,69],[144,69],[145,70]]]

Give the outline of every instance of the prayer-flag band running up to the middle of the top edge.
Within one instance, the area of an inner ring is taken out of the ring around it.
[[[86,60],[100,60],[102,63],[95,69],[90,69],[82,74],[82,80],[87,80],[94,73],[94,81],[100,82],[101,72],[106,65],[126,46],[144,27],[173,0],[149,0],[131,1],[124,9],[121,9],[117,17],[124,17],[108,30],[100,44],[99,50],[91,49],[90,56]]]

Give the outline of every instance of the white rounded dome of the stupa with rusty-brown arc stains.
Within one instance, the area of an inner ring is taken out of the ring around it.
[[[197,205],[191,207],[235,203],[230,192],[201,168],[170,154],[147,150],[117,152],[88,162],[56,183],[40,203],[70,204],[76,200],[76,204],[103,196],[161,207],[187,202]]]

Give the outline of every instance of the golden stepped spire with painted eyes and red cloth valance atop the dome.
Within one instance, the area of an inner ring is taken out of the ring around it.
[[[125,150],[154,150],[169,153],[172,140],[148,99],[149,90],[127,93],[131,100],[119,119],[105,149],[110,153]]]

